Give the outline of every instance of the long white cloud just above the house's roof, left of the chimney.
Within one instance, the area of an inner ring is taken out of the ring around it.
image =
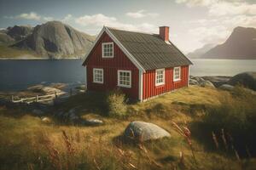
[[[77,24],[80,26],[110,26],[120,29],[130,30],[130,31],[147,31],[155,32],[157,27],[148,23],[142,23],[138,25],[125,24],[119,22],[115,17],[109,17],[104,14],[93,14],[93,15],[84,15],[79,18],[74,19]]]

